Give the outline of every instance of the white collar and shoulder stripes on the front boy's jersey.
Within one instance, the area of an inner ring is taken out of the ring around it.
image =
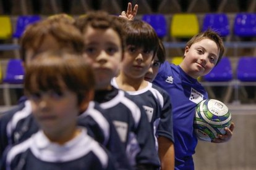
[[[11,148],[7,155],[7,165],[11,163],[16,155],[25,152],[28,148],[38,160],[51,163],[77,160],[89,152],[93,152],[104,167],[108,166],[107,153],[98,142],[87,135],[83,127],[79,136],[64,145],[50,142],[43,131],[36,132],[30,139]]]

